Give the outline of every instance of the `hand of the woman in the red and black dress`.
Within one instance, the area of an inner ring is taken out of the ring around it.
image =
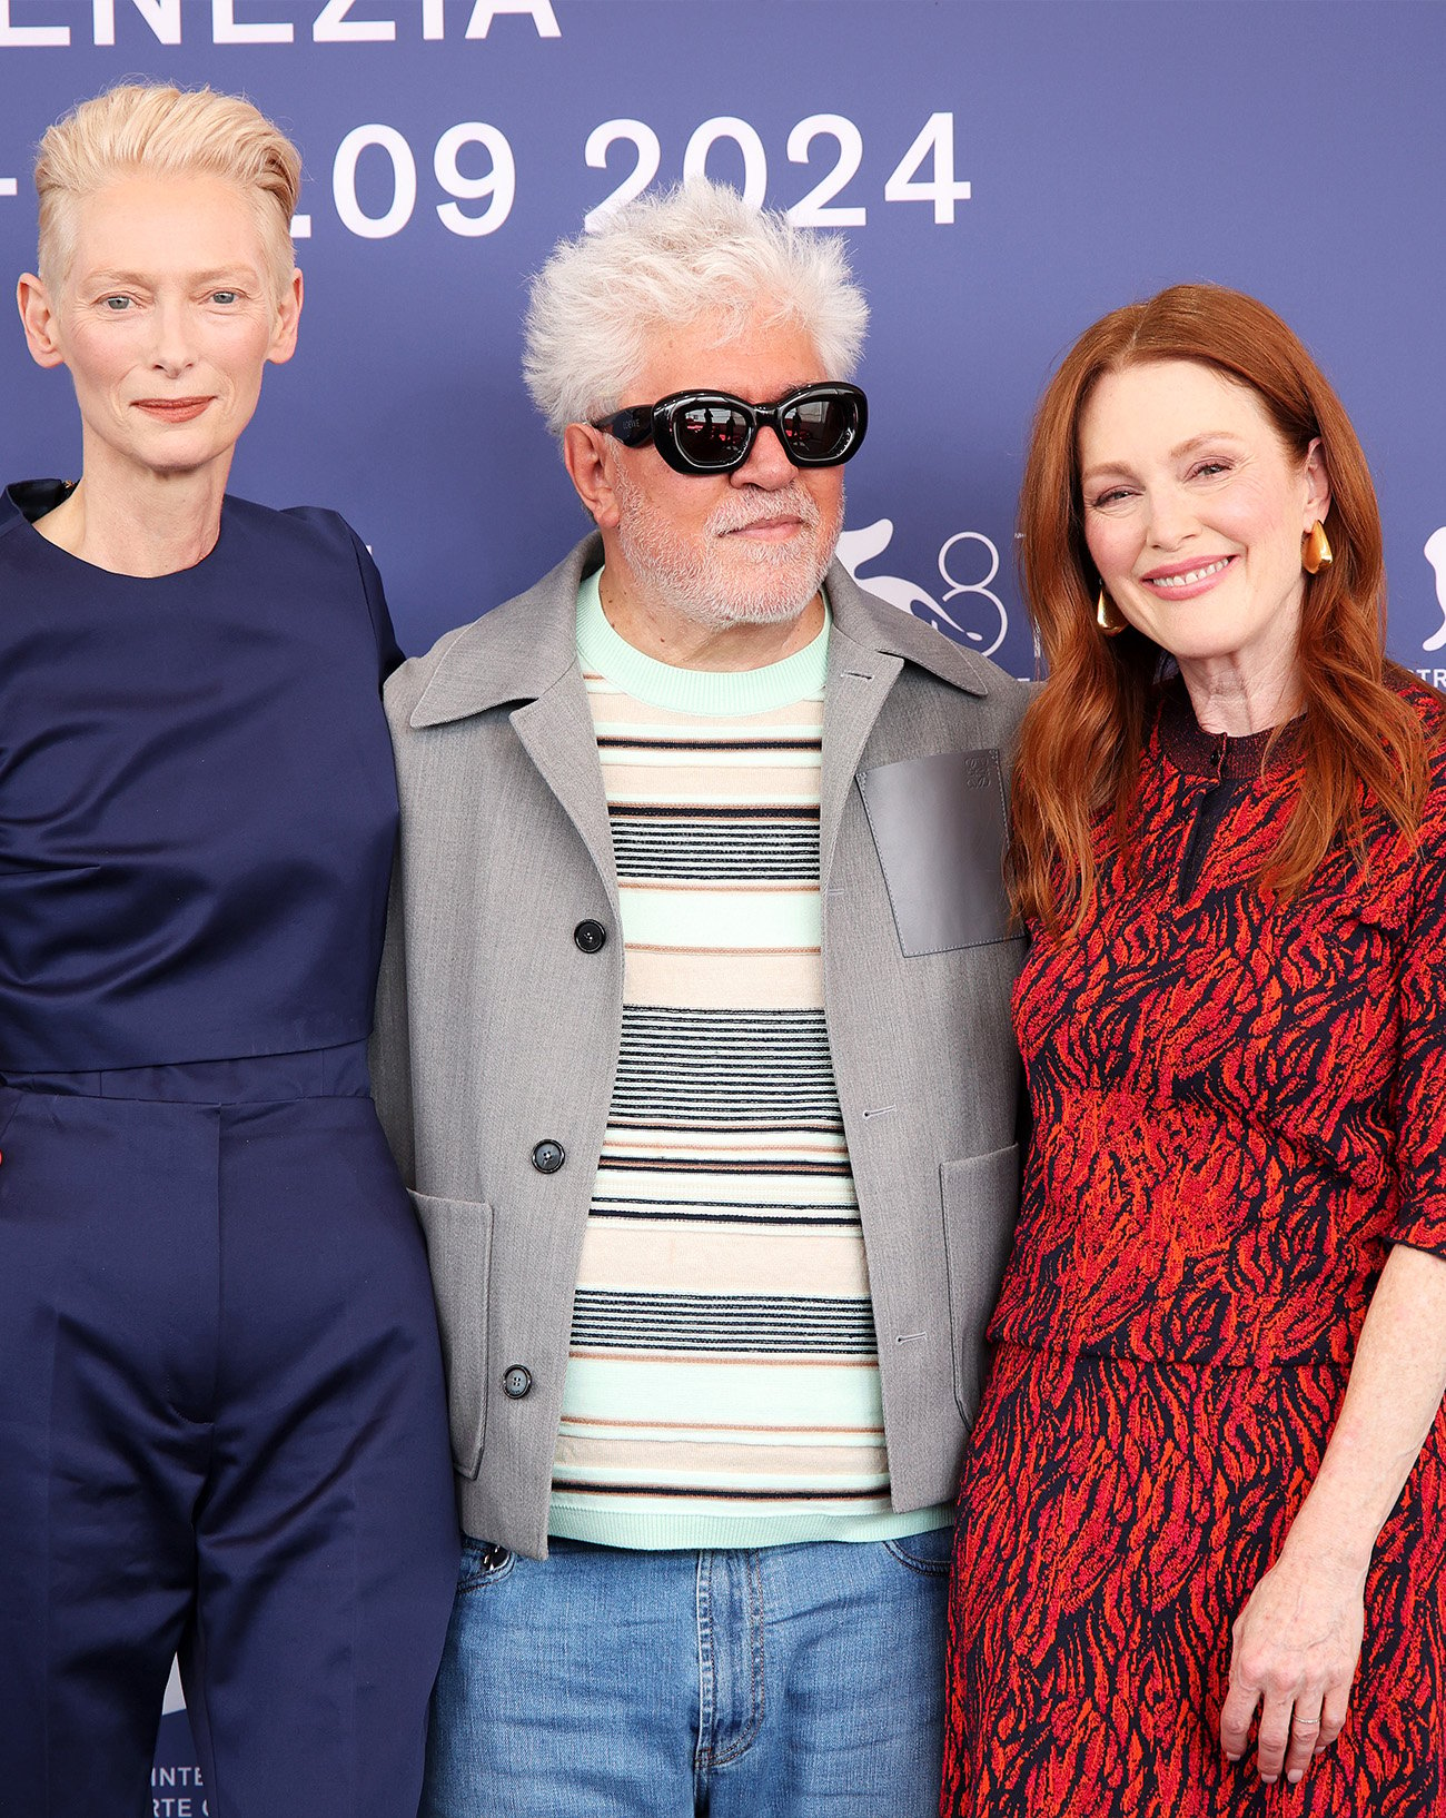
[[[1261,1780],[1297,1782],[1346,1722],[1361,1658],[1366,1573],[1344,1560],[1292,1553],[1250,1593],[1232,1629],[1230,1691],[1221,1745],[1239,1762],[1261,1713],[1255,1758]]]

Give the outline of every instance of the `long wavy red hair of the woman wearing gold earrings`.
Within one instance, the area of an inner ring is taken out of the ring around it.
[[[1163,651],[1095,624],[1099,576],[1084,545],[1079,420],[1106,373],[1193,360],[1248,385],[1297,460],[1319,438],[1335,560],[1308,574],[1301,614],[1301,791],[1261,884],[1293,896],[1333,840],[1361,849],[1375,800],[1413,829],[1426,794],[1421,720],[1384,656],[1386,569],[1366,456],[1335,391],[1264,304],[1213,284],[1177,284],[1086,329],[1039,404],[1019,496],[1025,594],[1048,680],[1025,714],[1014,782],[1010,893],[1046,927],[1079,927],[1095,887],[1094,834],[1108,813],[1128,849],[1135,774]]]

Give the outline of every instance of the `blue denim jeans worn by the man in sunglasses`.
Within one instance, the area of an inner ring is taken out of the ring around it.
[[[934,1818],[950,1529],[463,1542],[421,1818]]]

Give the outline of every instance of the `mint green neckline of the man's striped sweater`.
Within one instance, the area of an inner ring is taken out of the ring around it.
[[[578,660],[605,676],[616,689],[669,713],[728,714],[772,713],[799,700],[821,700],[828,673],[832,614],[823,602],[823,631],[801,651],[761,669],[679,669],[636,651],[609,625],[599,593],[603,571],[578,587]]]

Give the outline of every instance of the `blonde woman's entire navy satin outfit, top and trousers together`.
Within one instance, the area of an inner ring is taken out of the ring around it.
[[[347,524],[138,580],[0,502],[0,1814],[412,1818],[456,1578],[367,1084],[398,660]]]

